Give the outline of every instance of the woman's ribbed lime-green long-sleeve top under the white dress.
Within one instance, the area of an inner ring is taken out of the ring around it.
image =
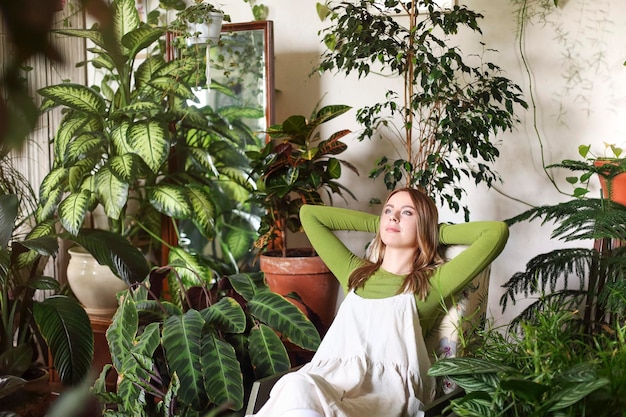
[[[304,205],[300,219],[313,248],[335,275],[344,292],[348,291],[350,274],[364,261],[351,252],[333,231],[351,230],[376,233],[380,224],[377,215],[344,208]],[[430,279],[426,299],[416,296],[422,331],[428,334],[445,311],[444,300],[462,290],[504,249],[509,232],[498,221],[441,224],[439,243],[468,245],[468,248],[439,266]],[[396,275],[379,268],[356,292],[363,298],[386,298],[398,293],[405,275]]]

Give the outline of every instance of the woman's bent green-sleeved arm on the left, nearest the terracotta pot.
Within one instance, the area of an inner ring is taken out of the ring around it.
[[[348,278],[362,264],[362,259],[352,253],[333,231],[376,233],[378,216],[345,208],[306,204],[300,208],[300,220],[313,248],[346,291]]]

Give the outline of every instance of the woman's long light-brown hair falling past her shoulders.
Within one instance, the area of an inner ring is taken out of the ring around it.
[[[433,200],[423,192],[414,188],[398,188],[392,191],[383,207],[389,199],[397,193],[406,192],[409,194],[416,210],[417,219],[417,241],[415,242],[415,257],[411,272],[404,279],[398,290],[400,293],[417,294],[420,298],[425,298],[428,294],[429,280],[435,268],[443,263],[439,255],[439,214],[437,206]],[[365,264],[355,269],[350,274],[348,287],[350,289],[362,288],[367,280],[376,272],[383,262],[385,256],[385,244],[380,236],[380,229],[376,237],[369,245]]]

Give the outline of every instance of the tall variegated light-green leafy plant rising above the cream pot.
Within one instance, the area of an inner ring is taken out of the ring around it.
[[[158,261],[166,257],[160,251],[162,230],[177,230],[177,222],[187,220],[212,238],[216,216],[226,211],[219,205],[242,201],[240,184],[247,175],[242,149],[256,146],[257,138],[237,126],[256,109],[232,106],[217,113],[193,105],[194,91],[207,84],[206,48],[187,44],[194,34],[186,31],[186,9],[170,25],[159,26],[158,13],[141,22],[133,0],[115,0],[110,7],[116,22],[112,36],[97,27],[55,32],[94,44],[93,57],[79,65],[99,70],[102,81],[39,90],[42,109],[61,107],[64,117],[53,138],[54,161],[41,184],[37,220],[56,218],[77,235],[92,226],[89,216],[100,208],[106,221],[98,227]],[[200,5],[190,7],[198,12]],[[175,36],[166,44],[168,33]],[[166,227],[164,219],[175,224]],[[166,241],[175,245],[178,238]]]

